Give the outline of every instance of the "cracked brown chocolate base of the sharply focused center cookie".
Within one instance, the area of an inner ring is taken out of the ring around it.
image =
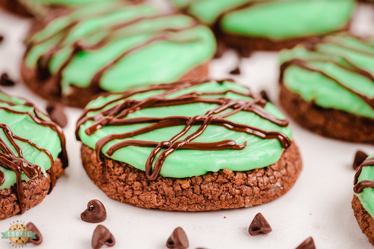
[[[108,197],[142,208],[208,211],[260,205],[277,199],[294,185],[302,163],[295,144],[275,164],[249,171],[221,169],[205,175],[150,181],[144,171],[104,156],[98,166],[95,150],[82,145],[81,157],[91,180]]]

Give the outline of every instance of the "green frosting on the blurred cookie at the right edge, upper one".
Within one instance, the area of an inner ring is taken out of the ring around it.
[[[323,108],[374,118],[373,108],[354,93],[374,98],[373,80],[357,71],[361,69],[374,75],[374,41],[340,34],[325,37],[313,51],[299,45],[292,50],[283,50],[279,55],[281,64],[295,58],[325,75],[291,65],[285,69],[283,77],[289,90]]]

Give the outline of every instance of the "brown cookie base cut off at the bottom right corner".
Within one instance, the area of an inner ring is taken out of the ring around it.
[[[374,220],[355,195],[352,199],[352,209],[362,233],[368,236],[369,242],[374,246]]]

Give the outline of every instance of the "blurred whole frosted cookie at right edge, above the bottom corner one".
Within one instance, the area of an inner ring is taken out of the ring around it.
[[[374,42],[347,34],[279,55],[279,101],[301,126],[322,136],[374,143]]]

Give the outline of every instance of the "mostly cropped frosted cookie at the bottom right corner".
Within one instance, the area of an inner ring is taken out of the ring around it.
[[[356,169],[352,209],[362,233],[374,246],[374,154]]]

